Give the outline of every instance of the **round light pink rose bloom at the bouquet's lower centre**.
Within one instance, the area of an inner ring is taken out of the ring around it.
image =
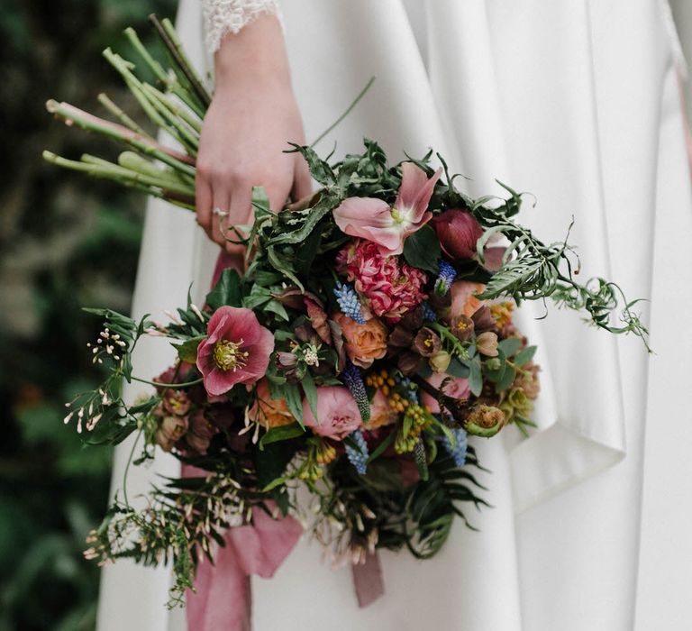
[[[314,434],[340,441],[362,425],[356,400],[348,388],[323,386],[317,389],[317,418],[307,399],[303,400],[303,422]]]

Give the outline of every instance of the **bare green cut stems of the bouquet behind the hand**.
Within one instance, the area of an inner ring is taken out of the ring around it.
[[[164,69],[150,55],[132,28],[128,28],[125,34],[165,92],[138,78],[134,72],[135,65],[113,50],[104,50],[104,57],[123,77],[150,122],[168,133],[182,151],[155,140],[109,96],[101,94],[98,96],[99,102],[114,114],[118,123],[53,99],[46,103],[46,109],[70,126],[123,142],[132,151],[123,151],[117,163],[87,154],[81,156],[80,160],[68,160],[51,151],[44,151],[43,158],[59,167],[81,171],[96,178],[112,179],[154,197],[167,199],[176,206],[194,210],[199,133],[211,97],[187,59],[170,21],[159,22],[154,15],[150,16],[150,20],[168,50],[171,68]]]

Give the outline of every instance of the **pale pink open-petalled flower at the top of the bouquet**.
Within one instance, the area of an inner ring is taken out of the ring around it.
[[[377,243],[386,254],[404,251],[406,237],[432,217],[426,211],[442,169],[428,178],[413,162],[404,162],[401,171],[401,187],[394,206],[375,197],[348,197],[334,209],[334,221],[342,232]]]

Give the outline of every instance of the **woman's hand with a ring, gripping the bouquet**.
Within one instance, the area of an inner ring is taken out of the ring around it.
[[[276,17],[263,15],[227,35],[214,71],[214,98],[197,156],[197,223],[237,253],[242,246],[227,241],[237,239],[227,227],[250,223],[252,187],[264,187],[278,210],[289,196],[309,195],[311,180],[300,154],[283,152],[287,142],[304,144],[305,137]],[[216,208],[221,215],[214,214]]]

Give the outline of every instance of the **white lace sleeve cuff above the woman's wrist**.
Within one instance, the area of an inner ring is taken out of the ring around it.
[[[205,15],[206,47],[214,53],[223,36],[237,33],[261,14],[273,14],[281,19],[277,0],[202,0]]]

